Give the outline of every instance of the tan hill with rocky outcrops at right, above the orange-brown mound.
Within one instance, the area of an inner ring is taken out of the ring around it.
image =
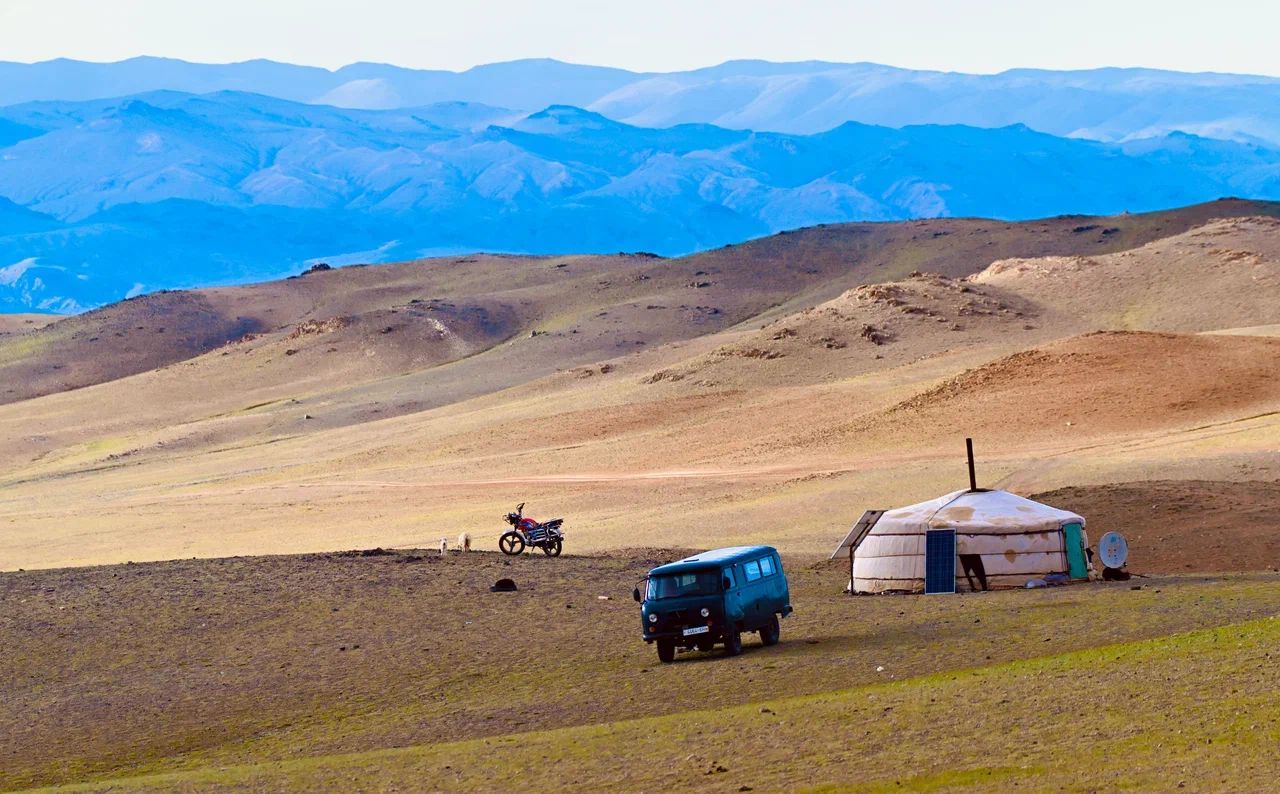
[[[1119,254],[1000,260],[960,279],[914,271],[860,286],[653,379],[795,384],[1096,329],[1274,336],[1277,320],[1280,220],[1234,218]]]

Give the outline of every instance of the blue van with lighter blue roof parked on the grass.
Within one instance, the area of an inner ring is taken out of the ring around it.
[[[791,589],[772,546],[717,548],[659,565],[631,594],[640,602],[640,633],[669,662],[676,648],[727,656],[742,652],[742,633],[759,631],[765,645],[778,642],[778,619],[791,613]]]

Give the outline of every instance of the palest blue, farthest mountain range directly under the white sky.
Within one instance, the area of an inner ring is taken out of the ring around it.
[[[968,124],[1124,141],[1169,132],[1280,143],[1280,78],[1160,69],[963,74],[881,64],[735,60],[664,74],[516,60],[466,72],[352,64],[337,70],[269,60],[192,64],[0,61],[0,105],[106,99],[150,91],[247,91],[352,109],[468,102],[530,113],[573,105],[640,127],[716,124],[814,133],[845,122]]]

